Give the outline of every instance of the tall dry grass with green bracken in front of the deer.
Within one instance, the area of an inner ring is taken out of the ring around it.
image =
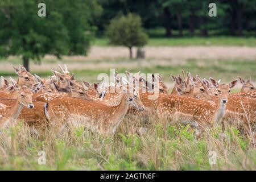
[[[233,122],[236,123],[236,122]],[[144,133],[140,129],[145,128]],[[81,118],[52,123],[43,134],[16,121],[0,134],[0,169],[7,170],[255,170],[256,150],[240,125],[214,124],[195,139],[193,129],[159,121],[155,113],[127,114],[104,136]],[[38,152],[46,152],[46,165]],[[217,154],[209,164],[209,152]]]

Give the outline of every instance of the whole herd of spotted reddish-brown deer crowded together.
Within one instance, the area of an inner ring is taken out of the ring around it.
[[[221,84],[221,80],[201,79],[182,71],[181,75],[170,75],[175,85],[168,93],[158,74],[146,79],[140,73],[126,71],[127,78],[115,73],[114,84],[104,86],[102,82],[79,82],[67,65],[59,67],[61,72],[52,71],[53,76],[46,80],[32,75],[23,66],[14,67],[18,80],[1,76],[0,130],[16,120],[45,130],[58,121],[80,117],[93,131],[112,134],[127,113],[138,112],[154,114],[159,118],[156,121],[190,125],[198,133],[214,123],[234,120],[253,135],[256,129],[256,91],[250,79],[238,77],[229,84]],[[241,91],[230,93],[238,81]]]

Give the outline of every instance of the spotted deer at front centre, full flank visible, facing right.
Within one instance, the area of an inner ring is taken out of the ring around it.
[[[68,118],[73,114],[84,117],[86,126],[102,134],[113,134],[125,116],[129,104],[143,110],[139,94],[133,86],[122,88],[122,98],[118,105],[109,106],[100,101],[88,101],[73,97],[59,97],[49,101],[44,107],[48,121]],[[131,92],[130,92],[131,91]],[[92,121],[96,121],[93,123]]]

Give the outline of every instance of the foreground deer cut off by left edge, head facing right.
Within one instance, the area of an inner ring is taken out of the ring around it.
[[[31,90],[26,85],[20,87],[15,82],[11,84],[13,84],[14,89],[18,92],[18,96],[12,105],[0,107],[0,128],[6,127],[10,121],[17,119],[23,106],[29,109],[34,108]]]

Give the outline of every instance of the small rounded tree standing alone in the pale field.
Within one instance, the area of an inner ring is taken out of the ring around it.
[[[142,47],[147,43],[147,34],[142,29],[141,18],[135,14],[121,15],[110,21],[106,36],[111,44],[129,48],[130,59],[133,47]]]

